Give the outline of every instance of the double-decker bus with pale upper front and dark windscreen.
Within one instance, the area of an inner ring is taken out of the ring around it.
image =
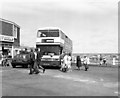
[[[63,52],[72,53],[72,40],[59,28],[47,27],[37,31],[36,48],[42,52],[42,66],[61,66]]]

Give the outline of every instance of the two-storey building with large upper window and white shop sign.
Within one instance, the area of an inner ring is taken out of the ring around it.
[[[12,21],[0,18],[0,53],[16,54],[20,46],[20,26]]]

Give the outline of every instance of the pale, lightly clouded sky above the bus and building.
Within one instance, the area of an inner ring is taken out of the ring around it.
[[[59,27],[74,53],[118,52],[118,0],[1,0],[1,18],[21,27],[21,45],[35,46],[37,30]]]

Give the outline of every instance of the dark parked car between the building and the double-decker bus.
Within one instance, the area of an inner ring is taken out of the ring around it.
[[[16,66],[22,66],[24,68],[28,68],[28,53],[20,53],[14,56],[12,59],[12,67],[15,68]]]

